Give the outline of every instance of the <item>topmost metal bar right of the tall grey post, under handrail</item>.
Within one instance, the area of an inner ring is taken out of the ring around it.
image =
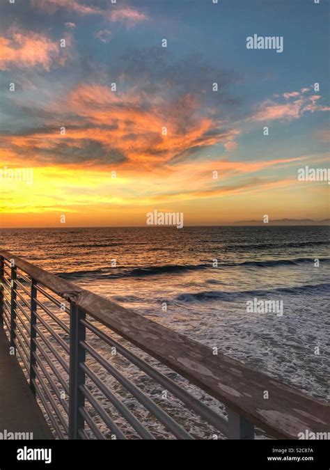
[[[105,334],[103,331],[100,331],[88,320],[82,320],[84,325],[92,331],[100,339],[104,340],[110,346],[116,347],[116,351],[120,352],[126,359],[132,362],[140,370],[143,370],[148,374],[152,379],[155,379],[156,382],[163,385],[166,390],[172,393],[176,398],[178,398],[182,403],[187,405],[190,409],[196,412],[199,416],[204,418],[208,423],[210,423],[214,428],[217,428],[223,434],[228,432],[228,423],[225,418],[214,412],[212,409],[204,405],[193,395],[190,395],[187,391],[182,389],[178,384],[175,384],[172,379],[166,377],[166,375],[160,373],[157,369],[152,368],[146,361],[137,357],[135,354],[127,350],[124,346],[120,345],[116,340]]]

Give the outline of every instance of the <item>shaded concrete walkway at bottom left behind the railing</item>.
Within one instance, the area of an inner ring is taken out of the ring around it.
[[[33,432],[33,439],[52,439],[26,378],[0,325],[0,439],[8,432]]]

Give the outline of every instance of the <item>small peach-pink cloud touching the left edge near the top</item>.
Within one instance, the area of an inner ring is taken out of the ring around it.
[[[8,31],[10,39],[0,36],[0,70],[39,67],[50,70],[56,61],[61,62],[60,47],[47,36],[17,28]]]

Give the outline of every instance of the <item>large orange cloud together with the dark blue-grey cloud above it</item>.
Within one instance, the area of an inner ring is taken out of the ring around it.
[[[109,29],[97,33],[104,41],[110,35]],[[126,171],[147,173],[196,159],[200,150],[213,145],[235,150],[239,130],[230,125],[230,115],[238,102],[228,91],[233,74],[207,65],[198,54],[169,62],[161,47],[129,49],[113,61],[111,70],[95,67],[69,91],[55,88],[52,93],[45,85],[49,95],[41,105],[33,106],[32,95],[27,107],[26,97],[19,102],[17,96],[15,109],[28,128],[3,132],[17,155],[36,164],[49,162],[51,155],[54,162],[75,164],[76,150],[81,149],[81,162],[105,167],[115,158]],[[212,92],[214,79],[221,83],[221,93]],[[117,91],[104,85],[113,81]],[[63,123],[64,138],[59,136]],[[72,152],[64,141],[70,142]],[[91,141],[99,143],[97,152],[84,150]]]

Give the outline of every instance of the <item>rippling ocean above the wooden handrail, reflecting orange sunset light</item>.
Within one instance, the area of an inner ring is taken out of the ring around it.
[[[329,227],[3,229],[1,246],[329,398]],[[256,300],[282,314],[248,311]]]

